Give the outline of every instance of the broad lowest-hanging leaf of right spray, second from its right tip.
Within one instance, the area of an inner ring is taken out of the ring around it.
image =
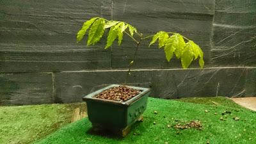
[[[187,43],[184,48],[184,52],[182,53],[182,56],[181,56],[182,67],[188,68],[191,62],[193,61],[193,59],[194,59],[194,54],[191,48],[189,47],[189,44]]]

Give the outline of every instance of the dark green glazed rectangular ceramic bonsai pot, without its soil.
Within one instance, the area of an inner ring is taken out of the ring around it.
[[[83,100],[86,101],[88,118],[90,122],[92,122],[93,127],[100,127],[100,129],[108,129],[110,131],[121,131],[122,135],[125,136],[127,131],[129,132],[131,125],[140,120],[143,112],[147,108],[147,99],[150,89],[127,86],[135,90],[141,90],[141,92],[125,102],[94,97],[100,92],[115,86],[120,85],[111,84],[86,95],[83,97]]]

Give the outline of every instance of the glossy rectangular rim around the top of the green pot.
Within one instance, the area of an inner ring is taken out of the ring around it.
[[[122,106],[129,106],[132,103],[136,102],[141,97],[143,97],[143,95],[150,92],[150,88],[141,88],[141,87],[138,87],[138,86],[127,86],[129,88],[134,88],[135,90],[142,90],[142,92],[139,93],[138,95],[136,95],[135,97],[132,97],[132,99],[129,99],[125,102],[119,102],[119,101],[116,101],[116,100],[99,99],[99,98],[94,97],[95,95],[99,94],[100,92],[103,92],[104,90],[108,90],[109,88],[113,88],[113,87],[116,87],[116,86],[127,86],[127,85],[111,84],[109,86],[106,86],[105,88],[101,88],[100,90],[97,90],[95,92],[89,93],[88,95],[85,95],[83,97],[83,100],[84,101],[95,100],[95,101],[99,101],[99,102],[108,102],[108,103],[118,104],[118,105],[122,105]]]

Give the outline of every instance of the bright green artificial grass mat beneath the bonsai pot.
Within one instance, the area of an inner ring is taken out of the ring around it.
[[[205,110],[208,112],[206,113]],[[154,113],[157,111],[157,114]],[[230,111],[230,113],[221,113]],[[215,114],[217,113],[217,114]],[[220,120],[220,117],[223,120]],[[233,117],[239,118],[234,120]],[[200,120],[202,131],[191,129],[168,128],[191,120]],[[156,124],[154,124],[156,122]],[[43,143],[256,143],[256,113],[247,109],[225,106],[209,106],[175,100],[148,99],[144,121],[132,127],[125,138],[115,138],[108,134],[92,134],[92,125],[88,118],[59,129],[45,139]],[[134,134],[135,133],[135,134]]]

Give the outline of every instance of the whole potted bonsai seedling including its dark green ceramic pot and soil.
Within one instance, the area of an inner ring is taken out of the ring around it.
[[[200,47],[179,33],[159,31],[155,35],[143,36],[136,28],[125,22],[93,17],[84,22],[83,27],[78,31],[77,42],[84,38],[89,28],[87,45],[97,44],[106,29],[108,30],[108,38],[105,49],[111,47],[115,40],[117,40],[118,45],[121,45],[124,34],[128,35],[135,42],[136,49],[132,56],[132,61],[129,63],[125,84],[139,46],[143,40],[148,38],[152,38],[148,47],[155,44],[158,40],[158,47],[159,49],[164,49],[167,61],[170,61],[175,56],[181,60],[183,68],[188,68],[193,60],[199,59],[200,67],[204,67],[204,53]],[[122,136],[126,136],[131,129],[131,125],[143,118],[143,112],[147,108],[149,93],[149,88],[112,84],[86,95],[83,99],[86,101],[88,117],[93,127],[111,129],[111,131],[116,131],[122,134]]]

